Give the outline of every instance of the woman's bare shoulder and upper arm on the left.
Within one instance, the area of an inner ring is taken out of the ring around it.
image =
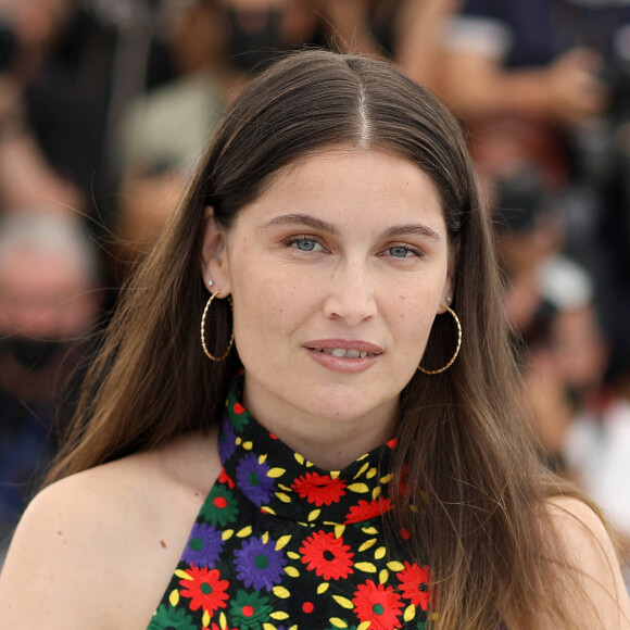
[[[0,627],[146,628],[219,467],[216,436],[188,436],[45,489],[0,575]]]

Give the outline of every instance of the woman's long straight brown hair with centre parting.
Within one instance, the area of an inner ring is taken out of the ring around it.
[[[234,351],[210,362],[199,342],[204,209],[213,206],[229,230],[280,167],[331,144],[388,151],[428,174],[457,251],[462,352],[443,374],[416,373],[401,394],[398,425],[395,479],[406,466],[406,492],[395,518],[414,532],[412,553],[431,566],[436,628],[489,630],[501,619],[533,628],[541,608],[559,623],[558,579],[545,559],[556,551],[542,508],[550,483],[516,402],[492,229],[466,143],[443,106],[382,61],[297,53],[235,101],[168,228],[124,290],[49,480],[217,421],[240,362]],[[220,354],[231,328],[227,301],[212,313],[206,337]],[[423,365],[443,364],[455,340],[449,316],[438,317]]]

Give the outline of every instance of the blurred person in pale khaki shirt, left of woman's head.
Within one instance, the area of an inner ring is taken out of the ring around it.
[[[168,5],[161,38],[176,77],[128,104],[110,158],[118,180],[114,229],[116,257],[123,263],[153,243],[230,94],[243,83],[225,62],[226,24],[218,0]]]

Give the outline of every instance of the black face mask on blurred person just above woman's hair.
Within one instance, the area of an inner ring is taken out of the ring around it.
[[[288,49],[280,30],[282,13],[269,8],[266,11],[256,12],[256,16],[260,17],[261,27],[256,30],[248,30],[242,27],[235,9],[229,9],[227,12],[230,29],[229,59],[243,72],[261,71],[279,52]]]

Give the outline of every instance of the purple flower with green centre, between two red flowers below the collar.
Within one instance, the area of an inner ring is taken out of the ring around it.
[[[284,577],[287,560],[276,543],[264,543],[260,538],[251,538],[235,552],[237,577],[248,588],[270,591]]]

